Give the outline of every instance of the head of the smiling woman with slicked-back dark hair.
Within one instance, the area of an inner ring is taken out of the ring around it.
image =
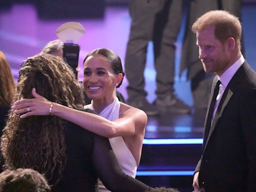
[[[98,48],[91,51],[84,58],[83,86],[90,99],[106,99],[95,111],[101,110],[112,102],[116,88],[122,83],[124,72],[121,60],[117,54],[109,49]],[[94,102],[97,105],[98,102]]]

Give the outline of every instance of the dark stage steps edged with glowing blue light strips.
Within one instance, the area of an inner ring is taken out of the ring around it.
[[[160,141],[168,144],[156,144],[164,143]],[[175,187],[191,192],[201,142],[201,138],[182,139],[182,142],[180,139],[145,139],[136,178],[153,187]]]

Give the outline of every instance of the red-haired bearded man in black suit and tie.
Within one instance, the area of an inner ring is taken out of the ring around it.
[[[212,10],[192,30],[204,71],[216,73],[193,188],[256,191],[256,73],[240,51],[241,24],[227,11]]]

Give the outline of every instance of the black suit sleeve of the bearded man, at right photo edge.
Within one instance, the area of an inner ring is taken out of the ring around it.
[[[241,103],[241,127],[248,158],[247,191],[256,191],[256,88]]]

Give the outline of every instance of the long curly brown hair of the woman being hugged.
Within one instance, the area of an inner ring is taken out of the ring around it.
[[[38,54],[21,64],[14,100],[33,98],[32,88],[52,102],[83,106],[80,86],[71,68],[59,57]],[[47,179],[54,175],[54,180],[59,180],[66,160],[63,130],[64,120],[57,116],[20,119],[10,112],[1,137],[4,168],[32,168]]]

